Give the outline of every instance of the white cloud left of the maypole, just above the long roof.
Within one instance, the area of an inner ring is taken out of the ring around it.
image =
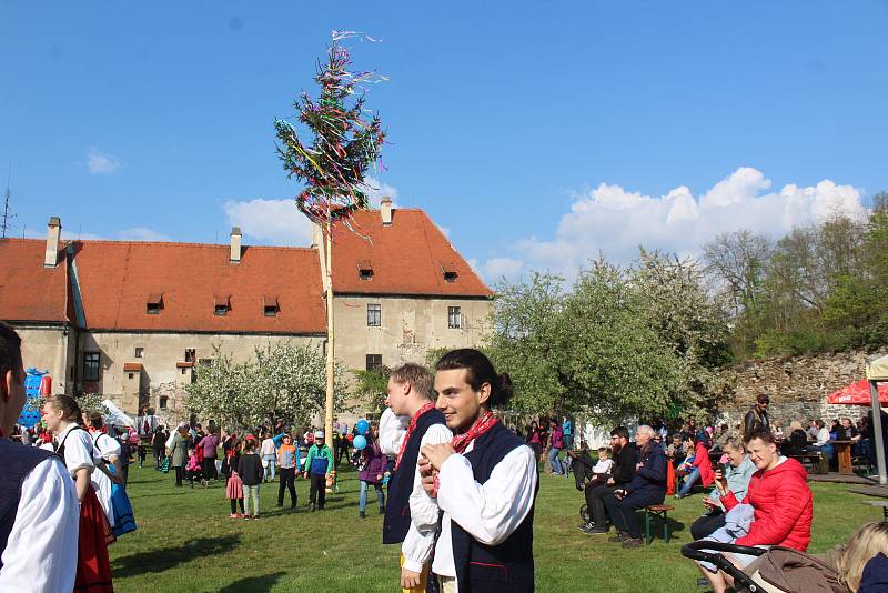
[[[312,224],[299,211],[293,200],[225,202],[229,223],[240,227],[244,234],[279,245],[306,247],[311,243]]]

